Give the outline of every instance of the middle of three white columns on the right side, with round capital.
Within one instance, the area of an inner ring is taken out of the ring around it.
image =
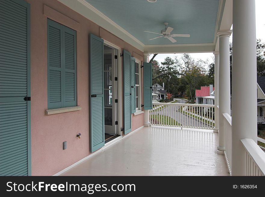
[[[229,36],[232,30],[218,31],[219,37],[219,141],[217,153],[224,154],[225,150],[225,120],[223,113],[230,114],[230,55]]]

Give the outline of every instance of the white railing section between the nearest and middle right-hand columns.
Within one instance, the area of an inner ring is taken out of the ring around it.
[[[225,156],[226,156],[226,162],[228,165],[229,173],[231,175],[231,146],[232,146],[232,117],[227,114],[223,113],[223,117],[225,120]]]

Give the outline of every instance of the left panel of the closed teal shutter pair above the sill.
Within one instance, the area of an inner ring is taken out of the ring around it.
[[[48,109],[62,107],[62,65],[63,36],[62,26],[52,20],[47,21],[47,58],[48,58]]]

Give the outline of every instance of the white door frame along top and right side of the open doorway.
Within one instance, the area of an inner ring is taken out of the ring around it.
[[[103,38],[104,40],[104,38]],[[122,135],[122,131],[121,131],[121,128],[123,127],[123,113],[122,113],[122,110],[123,110],[123,99],[122,99],[122,92],[123,92],[123,89],[122,89],[122,67],[121,67],[121,56],[119,56],[119,54],[121,53],[121,48],[118,47],[117,45],[115,44],[112,44],[111,42],[109,41],[106,41],[104,40],[104,44],[106,45],[109,45],[110,47],[113,47],[114,49],[117,49],[117,56],[118,56],[118,59],[117,59],[117,71],[118,71],[118,84],[117,84],[117,91],[118,91],[118,95],[117,95],[117,99],[118,99],[118,129],[117,129],[117,135]]]

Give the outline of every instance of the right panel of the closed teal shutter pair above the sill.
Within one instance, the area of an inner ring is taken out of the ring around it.
[[[76,31],[63,26],[63,107],[76,106]]]

